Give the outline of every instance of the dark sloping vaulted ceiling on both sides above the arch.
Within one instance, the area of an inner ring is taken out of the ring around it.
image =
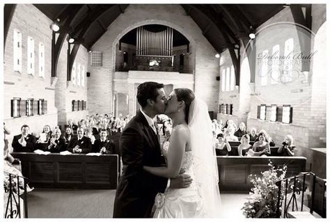
[[[69,33],[87,49],[100,39],[107,27],[128,4],[34,4],[61,31]],[[239,39],[283,9],[283,4],[181,4],[200,27],[214,49],[221,52],[238,44]],[[129,38],[127,38],[129,43]],[[180,42],[174,45],[179,45]]]

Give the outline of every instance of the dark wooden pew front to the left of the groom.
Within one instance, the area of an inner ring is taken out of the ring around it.
[[[22,163],[22,174],[34,187],[116,189],[118,155],[48,155],[13,152]]]

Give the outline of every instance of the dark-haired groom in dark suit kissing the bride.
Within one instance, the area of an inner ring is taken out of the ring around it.
[[[141,110],[127,123],[119,142],[123,174],[116,191],[113,218],[148,218],[158,192],[191,184],[189,175],[168,179],[143,171],[143,166],[162,166],[153,119],[165,110],[164,85],[152,81],[140,84],[136,98]]]

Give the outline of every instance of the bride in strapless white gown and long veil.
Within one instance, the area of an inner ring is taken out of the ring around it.
[[[154,218],[220,217],[219,174],[207,105],[192,90],[176,88],[168,97],[165,114],[173,120],[171,136],[162,146],[167,166],[143,168],[167,178],[184,170],[193,182],[184,189],[158,193]]]

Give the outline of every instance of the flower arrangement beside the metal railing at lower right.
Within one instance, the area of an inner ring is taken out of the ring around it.
[[[276,207],[278,201],[278,187],[276,182],[283,180],[287,171],[287,166],[283,168],[275,167],[272,161],[269,161],[269,170],[261,173],[261,177],[251,175],[250,197],[248,202],[242,207],[243,214],[246,218],[272,218],[276,216]],[[284,196],[284,184],[281,188],[281,200]],[[280,201],[281,201],[280,200]]]

